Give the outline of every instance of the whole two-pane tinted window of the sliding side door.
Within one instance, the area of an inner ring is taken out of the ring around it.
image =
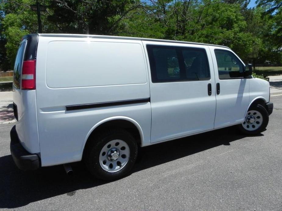
[[[147,45],[152,82],[209,80],[205,49]]]

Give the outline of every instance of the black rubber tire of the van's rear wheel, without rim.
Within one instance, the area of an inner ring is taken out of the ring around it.
[[[90,173],[96,178],[102,180],[116,180],[125,176],[133,167],[137,158],[137,143],[134,137],[123,129],[111,129],[99,133],[91,138],[91,142],[87,144],[84,151],[84,162]],[[127,164],[117,172],[105,171],[99,162],[99,155],[102,148],[111,140],[123,140],[127,143],[130,149],[130,156]]]

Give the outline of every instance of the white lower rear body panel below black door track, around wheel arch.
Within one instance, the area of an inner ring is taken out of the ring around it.
[[[39,122],[42,166],[80,161],[88,132],[96,123],[110,117],[129,116],[139,123],[144,138],[148,139],[150,111],[148,102],[93,110],[40,112],[41,119],[45,119]]]

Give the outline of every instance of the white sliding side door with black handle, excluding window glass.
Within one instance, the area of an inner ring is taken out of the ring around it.
[[[204,50],[210,71],[210,79],[177,82],[152,82],[150,80],[150,96],[152,106],[151,143],[187,136],[189,134],[211,130],[214,127],[216,112],[215,92],[208,95],[208,84],[215,89],[212,58],[207,46],[179,43],[157,43],[143,41],[144,48],[153,45],[160,49],[174,47]],[[160,54],[161,56],[163,54]],[[149,64],[148,52],[146,52]],[[165,63],[165,58],[159,58],[159,64]],[[174,58],[174,57],[173,57]],[[149,65],[148,65],[149,66]],[[163,68],[166,64],[163,65]],[[149,66],[150,67],[150,66]],[[149,71],[150,72],[150,71]]]

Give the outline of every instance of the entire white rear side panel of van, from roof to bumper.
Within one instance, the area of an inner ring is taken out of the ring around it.
[[[150,141],[150,102],[66,110],[149,99],[144,55],[138,40],[39,36],[36,95],[42,166],[80,161],[91,128],[115,116],[135,120],[144,141]]]

